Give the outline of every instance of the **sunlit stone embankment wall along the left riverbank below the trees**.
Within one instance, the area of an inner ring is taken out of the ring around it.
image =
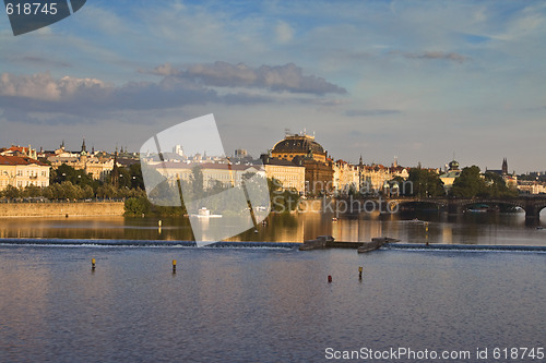
[[[122,216],[123,202],[74,203],[1,203],[0,218],[4,217],[92,217]]]

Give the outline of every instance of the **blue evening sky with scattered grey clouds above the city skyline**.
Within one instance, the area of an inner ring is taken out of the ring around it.
[[[334,159],[546,170],[546,2],[87,0],[13,36],[0,146],[139,150],[214,113],[226,154],[286,130]]]

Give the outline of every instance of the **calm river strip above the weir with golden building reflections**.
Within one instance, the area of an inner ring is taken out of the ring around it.
[[[543,211],[543,215],[545,211]],[[339,241],[391,237],[408,243],[546,245],[546,230],[526,225],[523,214],[412,213],[342,216],[321,213],[270,215],[229,241],[302,242],[331,234]],[[188,241],[188,218],[10,218],[0,219],[0,238],[120,239]],[[538,226],[546,227],[546,215]],[[211,219],[209,223],[214,223]]]

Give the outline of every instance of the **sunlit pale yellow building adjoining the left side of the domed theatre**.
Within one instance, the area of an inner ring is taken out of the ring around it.
[[[296,190],[299,194],[305,194],[306,169],[292,161],[272,158],[268,155],[260,157],[265,169],[265,176],[278,180],[285,190]]]

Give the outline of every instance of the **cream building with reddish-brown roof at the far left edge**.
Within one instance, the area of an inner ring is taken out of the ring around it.
[[[49,186],[50,167],[29,157],[0,155],[0,191],[15,187]]]

